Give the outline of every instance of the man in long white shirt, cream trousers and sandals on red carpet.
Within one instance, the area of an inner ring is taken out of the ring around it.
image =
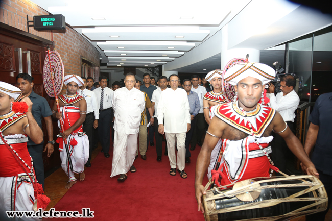
[[[190,107],[188,96],[185,90],[178,88],[179,76],[170,76],[170,90],[161,92],[158,104],[158,131],[166,134],[167,150],[170,159],[170,175],[176,175],[176,167],[181,178],[187,178],[184,171],[185,163],[185,136],[190,130]],[[164,125],[163,125],[164,120]],[[178,153],[175,156],[175,138],[177,141]],[[177,158],[177,159],[176,159]]]

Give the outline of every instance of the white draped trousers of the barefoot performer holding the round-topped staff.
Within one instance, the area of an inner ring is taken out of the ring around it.
[[[81,137],[78,135],[75,136],[69,136],[70,139],[75,138],[77,141],[77,145],[70,146],[69,152],[70,152],[70,159],[72,159],[73,163],[73,172],[69,169],[69,164],[67,160],[67,152],[65,150],[64,144],[63,144],[63,151],[60,151],[60,159],[61,159],[61,167],[65,171],[66,175],[69,177],[70,181],[75,181],[75,175],[74,173],[82,173],[84,171],[84,164],[87,162],[89,158],[89,138],[85,134]],[[70,143],[68,137],[68,144]]]

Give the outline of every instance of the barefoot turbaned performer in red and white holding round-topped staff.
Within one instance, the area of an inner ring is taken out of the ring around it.
[[[82,126],[86,117],[86,101],[84,97],[76,93],[84,82],[82,78],[77,75],[67,75],[64,77],[64,84],[67,86],[67,92],[59,96],[61,113],[57,113],[56,104],[54,104],[52,112],[53,116],[58,120],[62,118],[63,122],[64,131],[60,130],[61,134],[56,142],[59,143],[61,167],[69,177],[65,188],[70,189],[70,187],[76,183],[74,173],[80,175],[80,181],[83,181],[85,178],[84,164],[89,157],[89,140],[87,135],[83,133]],[[60,125],[60,123],[58,123],[58,125]],[[67,139],[73,171],[70,170],[63,139]]]

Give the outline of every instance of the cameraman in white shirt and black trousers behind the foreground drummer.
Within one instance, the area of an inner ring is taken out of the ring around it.
[[[300,98],[296,94],[294,88],[296,86],[296,79],[291,75],[284,75],[280,79],[280,90],[276,96],[274,95],[275,86],[269,83],[269,107],[275,109],[280,113],[283,120],[286,122],[288,127],[293,131],[293,122],[295,118],[295,110],[297,109]],[[294,133],[294,132],[293,132]],[[272,147],[272,160],[274,165],[279,168],[283,173],[286,172],[286,154],[288,147],[282,137],[272,132],[271,134],[274,139],[271,142]],[[281,176],[277,174],[277,176]]]

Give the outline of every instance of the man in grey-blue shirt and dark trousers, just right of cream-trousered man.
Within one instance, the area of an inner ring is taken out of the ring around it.
[[[196,115],[198,114],[201,105],[199,103],[198,95],[196,92],[192,91],[192,83],[189,79],[184,79],[182,84],[184,90],[187,92],[189,107],[190,107],[190,130],[188,131],[185,137],[185,163],[190,163],[190,154],[189,142],[192,139],[193,131],[196,122]]]

